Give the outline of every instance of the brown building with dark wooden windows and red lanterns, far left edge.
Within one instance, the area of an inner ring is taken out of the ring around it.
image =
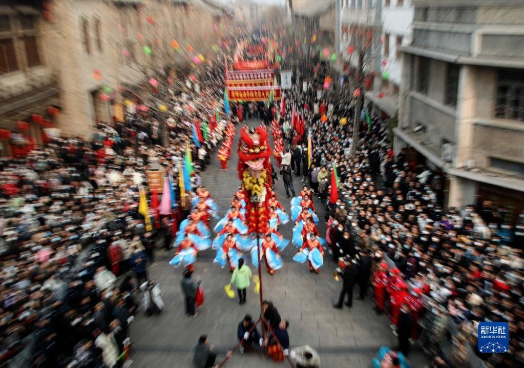
[[[42,128],[57,111],[57,74],[50,67],[42,32],[41,2],[0,5],[1,154],[12,155],[24,142],[42,143]],[[49,121],[49,123],[47,123]],[[11,139],[11,133],[16,134]]]

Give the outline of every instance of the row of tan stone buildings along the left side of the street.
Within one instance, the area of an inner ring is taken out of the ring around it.
[[[40,144],[37,114],[64,135],[90,138],[97,121],[112,121],[129,86],[211,56],[212,35],[231,16],[212,0],[8,2],[0,6],[0,128],[18,133],[26,121],[22,133]],[[50,116],[48,106],[60,113]]]

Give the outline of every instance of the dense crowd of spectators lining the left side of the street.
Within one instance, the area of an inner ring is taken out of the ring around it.
[[[198,93],[189,81],[182,94],[169,91],[166,114],[128,111],[125,122],[98,124],[89,141],[54,137],[26,157],[0,159],[0,365],[125,364],[133,316],[163,307],[147,270],[178,223],[153,216],[148,229],[139,191],[147,170],[178,172],[188,145],[199,156],[192,124],[223,105],[220,71],[206,73],[212,82]],[[219,116],[199,142],[205,155],[224,127]]]

